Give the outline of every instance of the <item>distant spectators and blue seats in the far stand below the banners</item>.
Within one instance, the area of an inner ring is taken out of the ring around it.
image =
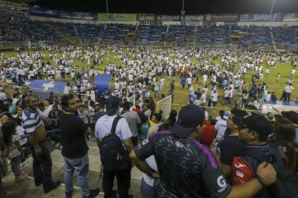
[[[239,44],[270,47],[273,42],[297,43],[297,26],[181,26],[136,24],[79,24],[55,22],[66,33],[78,37],[83,44],[99,41],[138,41],[177,43],[178,46],[199,42],[204,44]],[[0,41],[57,41],[60,33],[41,21],[1,21]],[[32,31],[34,30],[34,31]],[[232,40],[231,36],[240,39]]]

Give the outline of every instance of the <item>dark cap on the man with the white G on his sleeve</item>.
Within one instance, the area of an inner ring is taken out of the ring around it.
[[[179,138],[187,137],[205,120],[204,110],[195,104],[184,106],[179,111],[178,120],[172,128],[173,134]]]

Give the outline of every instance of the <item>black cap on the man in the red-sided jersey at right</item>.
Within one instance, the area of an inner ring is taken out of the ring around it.
[[[256,132],[260,137],[268,138],[273,132],[273,126],[263,115],[252,112],[245,117],[233,116],[232,121],[240,128],[249,128]]]

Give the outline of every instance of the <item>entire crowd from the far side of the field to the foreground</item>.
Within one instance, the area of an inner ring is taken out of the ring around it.
[[[277,62],[292,64],[282,96],[290,101],[297,56],[210,48],[44,48],[49,57],[38,49],[18,51],[9,57],[1,53],[1,80],[11,79],[15,85],[15,91],[8,96],[0,87],[1,167],[9,159],[15,182],[27,177],[20,163],[32,157],[36,187],[42,185],[44,193],[49,193],[60,186],[60,181],[51,179],[52,160],[46,145],[50,141],[62,150],[66,197],[73,196],[74,170],[83,197],[96,197],[99,189],[90,189],[87,181],[86,142],[90,140],[95,140],[100,150],[102,190],[108,198],[133,197],[129,195],[133,166],[144,173],[140,189],[143,198],[270,198],[277,193],[271,186],[280,187],[281,175],[296,178],[298,113],[287,111],[265,117],[248,114],[244,109],[259,109],[264,100],[277,100],[266,84]],[[75,61],[86,66],[78,69]],[[98,69],[99,65],[103,69]],[[112,90],[97,93],[92,81],[98,74],[113,75]],[[180,88],[175,86],[176,77],[180,77]],[[278,74],[276,84],[280,78]],[[41,100],[29,88],[19,89],[25,81],[34,79],[72,82],[73,86],[68,83],[60,98],[51,93]],[[195,90],[199,82],[203,87]],[[163,89],[166,83],[168,90]],[[164,117],[162,111],[155,112],[155,102],[167,95],[174,102],[177,89],[187,91],[189,105],[179,112],[171,110],[169,117]],[[92,92],[96,97],[81,99],[72,95]],[[128,101],[133,95],[135,104]],[[231,105],[234,95],[241,96],[242,109],[209,116],[206,106],[216,107],[219,96],[224,104]],[[53,129],[59,132],[47,134]],[[282,169],[276,168],[277,163]],[[4,177],[7,172],[3,170],[7,169],[0,170]],[[113,189],[115,176],[117,191]],[[294,197],[298,188],[293,187],[298,187],[298,181],[293,180],[291,185],[290,189],[284,185],[278,193]],[[1,191],[0,197],[11,198],[12,194]]]

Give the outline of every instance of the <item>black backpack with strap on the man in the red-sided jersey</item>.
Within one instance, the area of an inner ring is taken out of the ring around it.
[[[273,144],[270,144],[273,155],[267,156],[255,149],[245,148],[239,155],[249,155],[259,162],[266,161],[271,163],[276,171],[276,182],[269,186],[272,198],[298,198],[298,179],[296,173],[289,169],[283,159],[280,157],[280,150]],[[261,191],[262,192],[262,191]],[[262,197],[262,193],[259,197]]]

